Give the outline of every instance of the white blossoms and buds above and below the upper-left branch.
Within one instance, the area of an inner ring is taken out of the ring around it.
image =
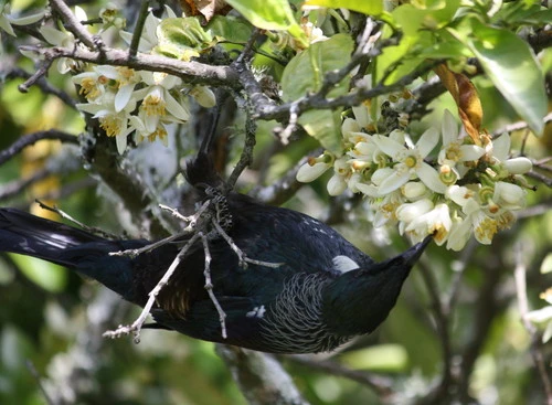
[[[20,21],[6,14],[7,11],[4,10],[0,18],[0,28],[8,30],[10,34],[13,31],[10,23],[38,22],[45,14],[42,12]],[[166,15],[177,17],[168,7]],[[79,7],[75,8],[75,18],[77,21],[88,21],[85,11]],[[130,43],[132,34],[123,31],[126,21],[116,7],[108,4],[103,8],[99,19],[99,34],[103,39],[118,34],[127,44]],[[140,52],[156,52],[160,22],[161,19],[152,13],[148,14],[138,45]],[[39,31],[51,45],[71,49],[85,46],[62,26],[43,23]],[[93,114],[106,135],[115,137],[119,153],[127,149],[127,138],[132,132],[137,142],[160,139],[167,143],[167,126],[185,122],[190,117],[184,95],[195,98],[204,107],[213,107],[215,104],[214,94],[209,87],[187,86],[179,77],[161,72],[135,71],[125,66],[84,65],[71,58],[60,58],[57,70],[62,74],[83,72],[73,77],[73,82],[79,86],[79,94],[86,100],[77,104],[77,107],[82,111]]]

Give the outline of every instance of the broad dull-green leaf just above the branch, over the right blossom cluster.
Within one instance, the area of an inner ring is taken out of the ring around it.
[[[337,34],[327,41],[316,42],[297,54],[287,64],[282,75],[283,98],[295,100],[320,89],[327,72],[343,67],[351,58],[353,42],[349,35]],[[330,92],[330,96],[346,94],[348,81],[342,81]]]

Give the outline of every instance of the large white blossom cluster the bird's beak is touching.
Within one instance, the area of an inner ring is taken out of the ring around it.
[[[445,111],[440,134],[429,128],[414,143],[404,129],[379,135],[367,110],[355,107],[355,119],[343,121],[343,153],[326,151],[309,159],[297,180],[310,182],[332,168],[329,194],[347,189],[364,194],[374,226],[396,225],[414,242],[433,234],[438,245],[446,243],[453,251],[461,249],[471,235],[490,244],[498,231],[512,224],[512,211],[526,204],[522,174],[532,166],[523,157],[508,158],[507,134],[493,140],[484,135],[476,146]]]

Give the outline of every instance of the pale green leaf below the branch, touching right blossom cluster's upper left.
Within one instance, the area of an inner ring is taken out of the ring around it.
[[[336,156],[343,153],[341,143],[341,109],[314,109],[302,113],[298,119],[308,135]]]

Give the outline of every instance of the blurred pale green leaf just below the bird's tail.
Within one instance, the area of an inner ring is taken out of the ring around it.
[[[67,271],[63,267],[30,256],[10,254],[10,257],[21,273],[45,290],[60,292],[65,288]]]

